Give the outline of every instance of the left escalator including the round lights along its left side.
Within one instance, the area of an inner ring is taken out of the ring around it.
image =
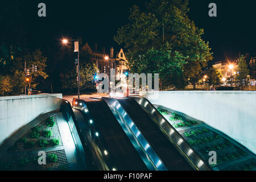
[[[104,100],[75,100],[73,105],[81,133],[92,148],[100,170],[148,170]],[[152,166],[152,165],[151,165]]]

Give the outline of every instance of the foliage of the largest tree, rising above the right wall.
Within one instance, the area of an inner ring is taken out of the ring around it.
[[[212,59],[208,43],[201,39],[204,31],[188,18],[187,5],[186,0],[151,0],[146,10],[130,9],[130,23],[118,29],[114,40],[127,49],[131,71],[159,73],[163,83],[184,85],[185,77],[195,75],[186,64],[199,68],[198,63],[204,67]],[[188,71],[191,74],[184,76]],[[183,84],[164,81],[174,76]]]

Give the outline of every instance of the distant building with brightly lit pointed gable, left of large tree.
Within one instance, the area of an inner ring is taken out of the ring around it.
[[[82,47],[82,51],[87,51],[90,55],[93,56],[93,60],[96,63],[97,69],[100,73],[109,73],[109,70],[115,69],[115,78],[120,80],[121,77],[125,76],[125,72],[128,67],[128,60],[125,57],[125,53],[121,48],[114,57],[114,48],[110,48],[110,55],[105,53],[105,48],[102,48],[102,51],[98,51],[97,44],[95,44],[94,50],[90,48],[89,44],[86,43]],[[108,59],[105,59],[108,57]],[[109,68],[109,70],[108,70]]]

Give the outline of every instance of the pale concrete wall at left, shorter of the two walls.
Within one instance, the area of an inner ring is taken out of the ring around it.
[[[0,97],[0,145],[40,114],[59,109],[62,94]]]

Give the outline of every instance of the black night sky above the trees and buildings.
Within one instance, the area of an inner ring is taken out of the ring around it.
[[[11,2],[11,1],[7,1]],[[60,39],[82,37],[92,48],[121,48],[113,40],[117,29],[127,23],[129,8],[144,6],[140,1],[21,1],[18,26],[27,31],[28,43],[34,48],[57,51]],[[46,18],[38,17],[38,3],[47,7]],[[217,4],[217,18],[208,16],[210,2]],[[190,0],[189,18],[203,28],[203,39],[214,52],[213,61],[234,60],[239,53],[256,55],[256,1]],[[11,16],[11,15],[10,15]],[[46,51],[47,52],[47,51]]]

